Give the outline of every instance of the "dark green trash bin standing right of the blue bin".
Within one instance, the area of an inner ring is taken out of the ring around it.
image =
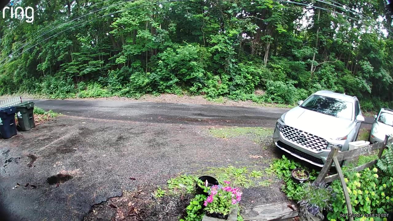
[[[18,105],[15,105],[17,108],[17,118],[18,124],[22,131],[29,131],[31,128],[35,127],[34,123],[34,102],[25,101]]]

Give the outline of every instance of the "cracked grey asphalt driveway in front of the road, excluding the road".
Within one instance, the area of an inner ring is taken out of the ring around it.
[[[263,152],[252,140],[231,142],[204,130],[195,125],[56,118],[0,140],[0,160],[5,162],[0,169],[1,201],[16,220],[81,220],[92,205],[123,190],[164,184],[177,173],[207,166],[254,164],[248,156]],[[66,176],[52,177],[58,173]]]

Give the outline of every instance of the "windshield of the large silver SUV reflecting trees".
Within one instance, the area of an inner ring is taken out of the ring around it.
[[[300,107],[337,118],[352,120],[353,103],[336,98],[312,95]]]

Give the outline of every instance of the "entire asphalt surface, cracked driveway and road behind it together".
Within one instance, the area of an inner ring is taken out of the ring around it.
[[[286,111],[126,101],[35,103],[66,116],[0,140],[0,201],[16,220],[81,220],[94,204],[124,190],[164,184],[204,167],[255,164],[248,156],[265,154],[260,144],[204,131],[212,125],[274,127]]]

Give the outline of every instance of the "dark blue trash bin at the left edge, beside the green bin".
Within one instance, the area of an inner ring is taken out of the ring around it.
[[[17,135],[15,112],[15,107],[0,108],[0,137],[3,139]]]

